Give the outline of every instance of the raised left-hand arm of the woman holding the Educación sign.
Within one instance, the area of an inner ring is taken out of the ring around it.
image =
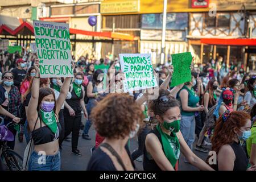
[[[39,60],[35,59],[35,70],[36,75],[32,80],[32,87],[31,87],[31,98],[30,102],[28,103],[28,109],[27,109],[27,121],[36,122],[36,118],[38,117],[38,97],[39,97],[39,87],[40,87],[40,73],[39,73]]]

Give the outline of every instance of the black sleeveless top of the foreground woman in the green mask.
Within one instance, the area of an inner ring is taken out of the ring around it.
[[[162,138],[161,138],[161,135],[160,135],[159,131],[154,129],[154,130],[151,130],[148,134],[150,134],[150,133],[154,133],[156,135],[156,137],[158,137],[160,143],[162,144],[162,150],[164,151]],[[146,146],[144,147],[143,152],[144,152],[144,159],[143,159],[144,171],[162,171],[158,167],[158,164],[156,164],[155,160],[151,156],[148,155],[149,153],[146,150]]]

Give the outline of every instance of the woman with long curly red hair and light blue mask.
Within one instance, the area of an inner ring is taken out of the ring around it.
[[[217,154],[218,171],[256,171],[256,166],[247,168],[248,159],[240,140],[250,137],[250,115],[243,111],[225,111],[216,123],[212,138],[212,151]],[[209,162],[210,159],[208,159]],[[209,162],[210,163],[210,162]]]

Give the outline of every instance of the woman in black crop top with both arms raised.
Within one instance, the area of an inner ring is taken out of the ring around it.
[[[50,88],[39,89],[39,63],[35,60],[36,76],[32,82],[32,95],[28,104],[27,121],[32,131],[34,151],[30,156],[28,170],[59,171],[59,133],[61,126],[58,121],[59,111],[68,94],[71,77],[65,78],[60,95]]]

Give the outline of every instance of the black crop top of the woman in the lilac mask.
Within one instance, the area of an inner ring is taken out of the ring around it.
[[[39,115],[38,115],[38,117],[39,117]],[[56,115],[55,115],[55,117],[56,117]],[[37,120],[38,119],[36,119],[36,121]],[[55,134],[49,129],[49,127],[47,127],[47,126],[42,127],[42,121],[41,121],[41,119],[39,119],[39,120],[40,120],[39,129],[36,129],[31,132],[31,137],[32,137],[35,145],[45,144],[45,143],[53,142],[53,141],[59,139],[59,135],[62,130],[60,122],[57,122],[57,132]]]

